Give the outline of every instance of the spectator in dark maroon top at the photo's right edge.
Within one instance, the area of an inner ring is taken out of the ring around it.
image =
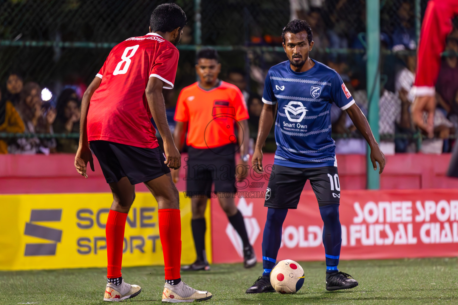
[[[442,60],[442,66],[437,78],[436,93],[438,106],[453,117],[458,116],[458,104],[455,96],[458,91],[458,39],[448,37],[445,50],[447,56]],[[458,122],[458,120],[455,120]]]

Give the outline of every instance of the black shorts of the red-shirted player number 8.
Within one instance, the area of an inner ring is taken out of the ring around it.
[[[89,142],[107,183],[127,177],[131,184],[147,182],[170,172],[159,147],[143,148],[109,141]]]

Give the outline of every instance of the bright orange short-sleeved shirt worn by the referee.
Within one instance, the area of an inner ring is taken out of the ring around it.
[[[188,122],[186,144],[202,149],[237,143],[234,125],[248,118],[240,89],[221,81],[208,91],[197,82],[183,88],[178,96],[174,119]]]

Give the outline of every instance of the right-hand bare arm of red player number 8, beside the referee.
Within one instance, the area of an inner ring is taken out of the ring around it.
[[[165,115],[164,96],[162,96],[162,87],[164,81],[157,77],[150,77],[145,90],[146,99],[148,101],[149,110],[153,115],[154,122],[158,127],[159,133],[164,140],[165,164],[177,169],[181,166],[181,155],[176,148],[172,133],[170,133],[169,124]]]

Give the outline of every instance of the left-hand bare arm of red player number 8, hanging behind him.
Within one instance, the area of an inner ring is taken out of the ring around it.
[[[91,97],[100,86],[101,82],[102,79],[96,76],[89,87],[87,87],[81,101],[80,144],[78,145],[78,151],[76,151],[75,168],[78,174],[85,178],[87,178],[87,163],[89,163],[91,166],[91,170],[94,171],[92,152],[89,148],[89,142],[87,141],[87,112],[89,110],[89,102],[91,102]]]

